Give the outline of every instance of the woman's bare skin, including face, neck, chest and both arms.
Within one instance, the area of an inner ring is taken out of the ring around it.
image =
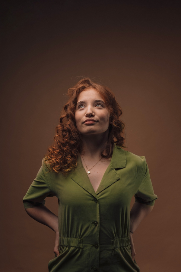
[[[98,101],[99,100],[99,101]],[[101,101],[100,101],[101,100]],[[93,121],[87,121],[93,119]],[[103,98],[100,97],[96,90],[90,88],[80,93],[78,103],[75,110],[76,126],[82,136],[82,156],[86,161],[86,165],[91,168],[99,159],[100,162],[91,170],[89,177],[90,182],[96,191],[103,177],[106,168],[110,163],[110,159],[101,158],[101,152],[105,149],[108,131],[110,125],[110,113],[105,106]],[[82,159],[82,158],[81,158]],[[84,161],[82,164],[87,171]],[[135,202],[130,212],[130,230],[133,232],[138,228],[138,225],[151,212],[153,206]],[[59,256],[59,231],[58,217],[53,214],[45,206],[27,208],[26,212],[36,221],[48,226],[55,231],[55,246],[54,253]],[[133,234],[130,232],[132,259],[135,257],[135,247],[133,242]]]

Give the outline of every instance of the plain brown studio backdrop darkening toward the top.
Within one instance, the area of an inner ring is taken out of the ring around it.
[[[179,1],[178,1],[179,4]],[[127,150],[146,156],[154,210],[134,233],[141,272],[180,271],[180,9],[172,1],[4,1],[1,271],[45,272],[54,232],[22,198],[79,78],[116,94]],[[56,198],[46,205],[57,213]]]

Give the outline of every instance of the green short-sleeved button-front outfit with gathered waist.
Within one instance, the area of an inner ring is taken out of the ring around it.
[[[60,255],[49,261],[49,272],[140,271],[131,257],[130,202],[134,194],[147,205],[157,199],[145,157],[115,146],[96,192],[80,156],[67,176],[47,171],[43,159],[23,202],[31,208],[58,198]]]

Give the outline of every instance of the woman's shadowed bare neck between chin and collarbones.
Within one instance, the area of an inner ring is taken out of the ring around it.
[[[102,135],[82,136],[82,155],[89,157],[99,157],[101,152],[106,148],[108,133]]]

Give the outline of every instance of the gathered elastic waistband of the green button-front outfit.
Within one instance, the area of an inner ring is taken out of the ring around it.
[[[85,246],[94,246],[94,244],[90,243],[90,238],[89,238],[89,241],[87,241],[86,238],[79,239],[79,238],[73,238],[73,237],[59,237],[59,244],[60,244],[60,246],[78,247],[78,248],[83,248],[84,245]],[[107,241],[107,243],[98,244],[98,245],[100,247],[105,247],[107,249],[116,249],[119,247],[126,247],[126,246],[130,245],[130,238],[129,238],[129,236],[116,238],[116,239]]]

